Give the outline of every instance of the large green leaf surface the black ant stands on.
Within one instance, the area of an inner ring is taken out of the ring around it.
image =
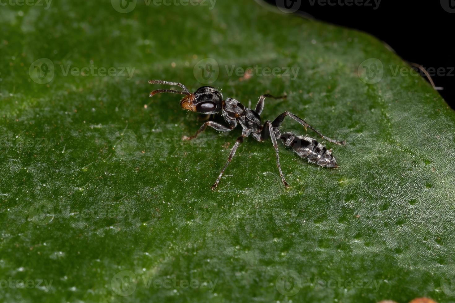
[[[454,298],[455,113],[380,41],[253,1],[41,3],[0,10],[2,301]],[[248,138],[212,192],[240,130],[182,141],[202,120],[149,79],[287,94],[263,121],[346,140],[339,169],[280,146],[286,190]]]

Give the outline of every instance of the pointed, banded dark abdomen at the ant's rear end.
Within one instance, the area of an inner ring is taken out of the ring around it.
[[[337,168],[332,152],[313,138],[283,133],[280,136],[285,148],[292,148],[300,158],[323,167]]]

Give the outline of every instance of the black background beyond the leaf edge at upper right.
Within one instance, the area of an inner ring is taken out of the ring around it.
[[[317,20],[376,36],[406,61],[422,65],[427,70],[442,68],[441,75],[432,75],[431,78],[435,86],[444,88],[438,92],[455,109],[455,0],[381,0],[379,5],[374,0],[363,0],[369,5],[351,6],[343,5],[346,0],[266,1],[280,6],[284,1],[288,1],[288,5],[294,1],[299,5],[294,7],[299,7],[300,12]],[[321,5],[328,2],[332,5]]]

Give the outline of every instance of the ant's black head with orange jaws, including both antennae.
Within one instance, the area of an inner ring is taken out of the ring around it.
[[[180,106],[182,106],[182,109],[189,109],[201,114],[216,114],[221,111],[223,106],[222,94],[212,86],[202,86],[198,88],[197,91],[195,91],[193,94],[191,94],[185,85],[177,82],[150,80],[148,83],[180,86],[183,91],[174,89],[156,89],[150,93],[150,97],[159,93],[184,94],[186,96],[183,97],[182,101],[180,101]]]

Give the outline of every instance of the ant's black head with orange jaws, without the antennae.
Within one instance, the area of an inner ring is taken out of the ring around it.
[[[193,94],[182,99],[182,109],[189,109],[200,114],[215,114],[221,111],[222,94],[211,86],[202,86]]]

